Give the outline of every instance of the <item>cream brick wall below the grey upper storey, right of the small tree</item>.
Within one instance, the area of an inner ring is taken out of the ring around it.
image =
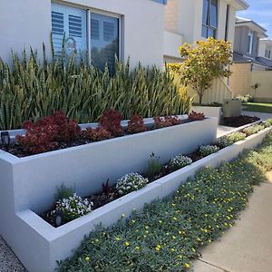
[[[251,63],[234,63],[231,66],[230,89],[233,97],[246,95],[251,86]]]

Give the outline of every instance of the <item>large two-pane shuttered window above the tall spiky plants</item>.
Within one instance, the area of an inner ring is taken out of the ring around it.
[[[119,57],[120,19],[99,15],[81,8],[52,4],[53,51],[56,57],[90,53],[92,64],[103,70],[105,63],[113,71],[115,56]],[[88,27],[87,22],[90,22]]]

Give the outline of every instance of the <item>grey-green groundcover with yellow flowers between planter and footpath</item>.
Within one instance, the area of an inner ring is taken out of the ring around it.
[[[98,227],[60,271],[185,271],[199,249],[232,228],[248,197],[272,169],[272,133],[257,151],[219,169],[200,170],[169,198]]]

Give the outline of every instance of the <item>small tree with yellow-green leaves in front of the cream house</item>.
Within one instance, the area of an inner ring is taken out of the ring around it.
[[[184,59],[178,65],[170,65],[174,72],[180,75],[181,83],[191,86],[199,94],[199,104],[202,103],[204,92],[218,77],[230,75],[231,44],[225,41],[209,38],[195,44],[183,44],[180,55]]]

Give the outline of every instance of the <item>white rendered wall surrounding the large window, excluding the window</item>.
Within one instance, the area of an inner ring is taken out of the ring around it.
[[[121,16],[121,58],[131,66],[163,65],[164,6],[151,0],[66,0],[58,4],[108,12]],[[152,16],[151,16],[152,15]],[[156,23],[154,23],[156,18]],[[32,46],[41,55],[42,43],[50,48],[50,0],[0,1],[0,57],[11,62],[11,49],[20,53]],[[144,49],[144,50],[143,50]]]

